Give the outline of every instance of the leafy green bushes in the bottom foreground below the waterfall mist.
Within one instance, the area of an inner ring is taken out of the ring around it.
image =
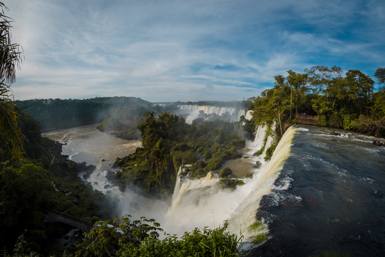
[[[144,217],[131,223],[129,217],[125,215],[122,223],[115,226],[111,225],[119,219],[97,222],[98,227],[86,234],[83,244],[78,245],[76,256],[236,256],[242,245],[243,236],[238,238],[225,231],[228,222],[214,229],[204,227],[201,231],[195,228],[185,232],[180,239],[165,233],[166,238],[159,240],[157,231],[162,231],[159,223]],[[118,228],[122,232],[118,232]]]

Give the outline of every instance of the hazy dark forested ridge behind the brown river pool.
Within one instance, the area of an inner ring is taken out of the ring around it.
[[[33,99],[15,101],[40,122],[43,131],[100,123],[111,108],[151,106],[137,97],[95,97],[90,99]]]

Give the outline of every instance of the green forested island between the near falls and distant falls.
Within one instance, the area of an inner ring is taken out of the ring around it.
[[[209,171],[219,172],[224,161],[242,156],[237,149],[245,145],[245,132],[239,122],[196,119],[187,124],[184,118],[167,112],[159,117],[146,112],[144,118],[138,126],[143,148],[117,158],[114,164],[122,172],[113,174],[112,179],[122,188],[134,183],[150,194],[172,193],[179,166],[192,164],[188,170],[191,176],[201,178]],[[197,159],[198,153],[207,163]]]

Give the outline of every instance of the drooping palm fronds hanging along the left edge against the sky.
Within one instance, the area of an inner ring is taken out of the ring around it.
[[[11,43],[11,21],[5,16],[8,8],[0,2],[0,143],[5,143],[7,150],[15,158],[23,152],[23,135],[18,126],[18,118],[13,108],[13,94],[10,86],[15,82],[15,71],[22,62],[20,45]]]

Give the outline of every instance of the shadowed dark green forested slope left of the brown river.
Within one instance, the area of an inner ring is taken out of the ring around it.
[[[74,163],[61,155],[62,144],[40,136],[40,126],[29,114],[17,108],[25,135],[24,151],[15,160],[0,145],[0,248],[12,252],[25,230],[28,248],[48,256],[55,237],[70,229],[60,223],[45,224],[41,208],[54,209],[94,223],[107,214],[106,198],[79,178],[79,172],[95,166]],[[0,132],[0,136],[1,132]]]

